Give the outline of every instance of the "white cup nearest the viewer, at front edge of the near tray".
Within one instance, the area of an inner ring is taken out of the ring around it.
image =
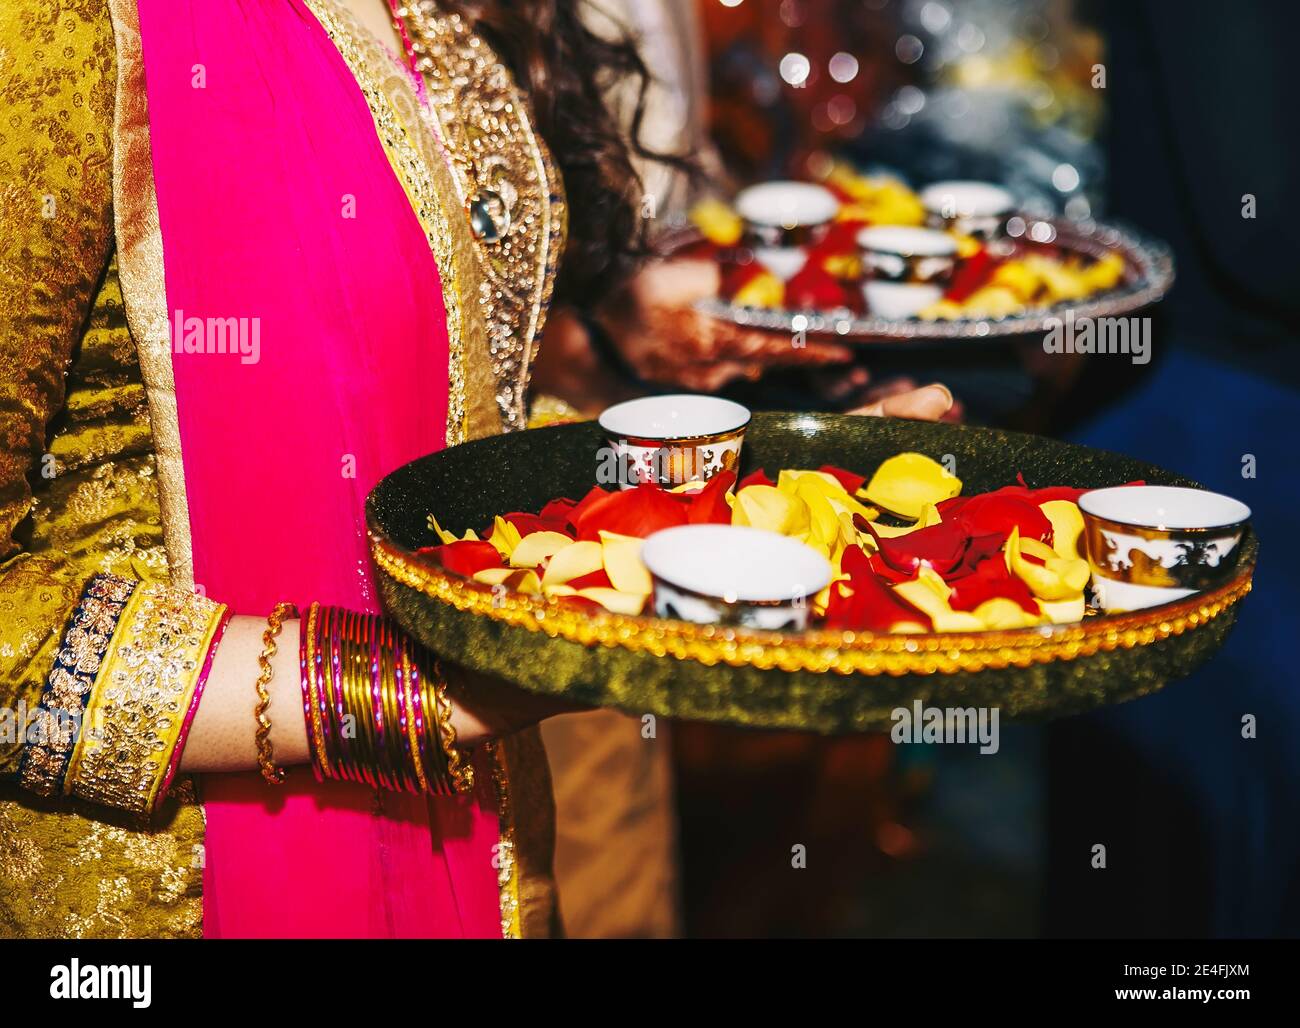
[[[659,617],[772,630],[807,628],[811,599],[833,573],[810,546],[740,525],[656,532],[641,559],[654,580]]]

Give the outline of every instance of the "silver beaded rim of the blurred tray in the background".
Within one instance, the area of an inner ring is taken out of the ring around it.
[[[751,329],[798,333],[809,337],[833,338],[852,343],[941,343],[959,339],[1005,341],[1009,335],[1031,335],[1048,330],[1049,320],[1062,318],[1066,308],[1075,320],[1122,317],[1141,311],[1160,300],[1174,283],[1174,257],[1169,247],[1130,227],[1053,218],[1026,217],[1026,234],[1040,233],[1054,246],[1102,257],[1118,250],[1124,257],[1123,279],[1114,289],[1082,300],[1052,307],[1034,307],[1018,315],[998,318],[961,318],[956,321],[920,321],[858,317],[840,311],[772,311],[759,307],[737,307],[725,300],[701,300],[696,308],[711,317]],[[1039,226],[1046,226],[1040,229]],[[676,246],[685,246],[679,240]]]

